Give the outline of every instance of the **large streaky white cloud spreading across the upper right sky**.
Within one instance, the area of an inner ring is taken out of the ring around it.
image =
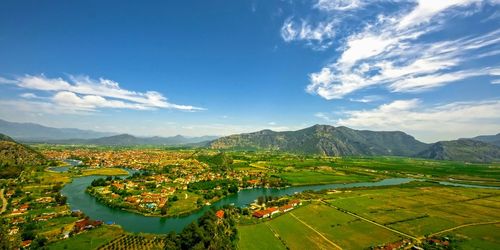
[[[355,11],[369,3],[319,0],[313,7],[323,11]],[[480,11],[485,3],[499,1],[416,0],[411,8],[380,14],[363,24],[363,29],[340,40],[343,44],[337,49],[336,60],[309,74],[306,90],[330,100],[342,99],[371,86],[385,86],[392,92],[419,92],[471,77],[494,75],[500,65],[478,67],[479,64],[473,66],[470,62],[500,53],[500,29],[468,33],[451,40],[420,39],[445,29],[449,17]],[[334,19],[337,12],[325,20]],[[282,28],[283,39],[301,40],[299,30],[287,20]]]

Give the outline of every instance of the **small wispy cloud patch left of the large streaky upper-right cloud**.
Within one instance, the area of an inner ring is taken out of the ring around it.
[[[285,20],[281,27],[281,37],[286,42],[306,41],[306,44],[317,50],[324,50],[332,45],[335,37],[334,22],[319,22],[316,26],[306,20],[300,24],[292,18]]]

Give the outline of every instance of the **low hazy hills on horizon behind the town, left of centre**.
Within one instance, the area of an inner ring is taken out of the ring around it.
[[[119,134],[96,139],[69,139],[69,140],[48,140],[49,143],[58,144],[88,144],[88,145],[108,145],[108,146],[133,146],[133,145],[165,145],[178,146],[188,144],[198,144],[217,139],[217,136],[185,137],[176,135],[172,137],[136,137],[129,134]]]

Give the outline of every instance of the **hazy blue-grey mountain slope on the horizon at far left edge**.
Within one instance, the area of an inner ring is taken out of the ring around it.
[[[96,132],[75,128],[51,128],[35,123],[8,122],[1,119],[0,133],[7,134],[20,141],[91,139],[114,135],[114,133]]]

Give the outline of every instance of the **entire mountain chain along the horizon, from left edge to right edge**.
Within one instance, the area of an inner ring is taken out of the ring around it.
[[[34,123],[0,120],[0,133],[25,142],[87,145],[198,146],[220,150],[273,150],[327,156],[404,156],[470,162],[500,161],[500,133],[470,139],[423,143],[401,131],[355,130],[314,125],[297,131],[262,130],[217,136],[137,137],[72,128],[51,128]],[[0,138],[2,139],[2,138]],[[3,141],[13,141],[5,137]]]

